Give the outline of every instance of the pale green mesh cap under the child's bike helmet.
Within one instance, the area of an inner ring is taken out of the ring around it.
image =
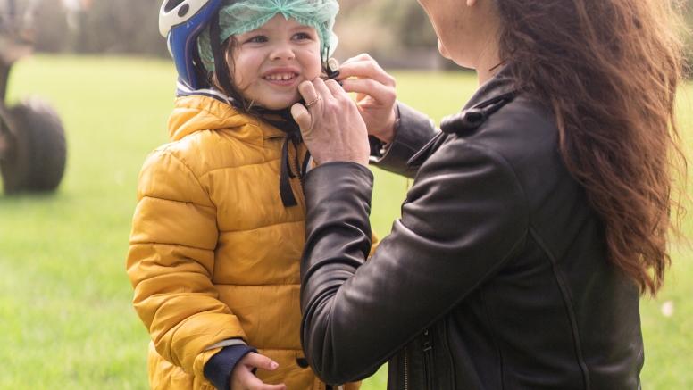
[[[258,29],[277,13],[288,20],[294,18],[304,26],[314,27],[321,42],[321,55],[326,60],[337,47],[337,36],[332,32],[339,11],[337,0],[225,0],[219,8],[221,42],[234,34],[245,34]],[[214,71],[209,25],[197,38],[200,57],[207,71]]]

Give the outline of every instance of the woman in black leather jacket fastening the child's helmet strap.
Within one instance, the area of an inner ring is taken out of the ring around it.
[[[299,90],[319,103],[292,108],[319,164],[303,182],[307,360],[336,385],[388,361],[390,389],[639,388],[639,296],[663,284],[685,175],[670,2],[420,3],[440,53],[479,75],[442,133],[393,110],[394,81],[363,58],[341,69],[361,77],[344,82],[357,104],[314,80]],[[364,262],[371,149],[415,181]]]

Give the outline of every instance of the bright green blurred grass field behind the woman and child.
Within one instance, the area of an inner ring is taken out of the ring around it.
[[[458,111],[476,84],[466,73],[396,76],[400,100],[436,120]],[[13,70],[9,100],[53,104],[69,156],[56,194],[0,196],[0,389],[148,388],[148,335],[130,305],[125,255],[138,172],[167,142],[174,84],[171,62],[133,58],[38,56]],[[407,182],[375,173],[372,222],[384,234]],[[666,288],[641,303],[649,390],[693,388],[690,256],[675,250]],[[384,385],[380,370],[363,388]]]

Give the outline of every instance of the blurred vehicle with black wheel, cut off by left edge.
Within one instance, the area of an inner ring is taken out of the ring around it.
[[[0,172],[4,193],[53,191],[63,178],[67,155],[60,117],[38,98],[13,107],[4,104],[13,63],[33,53],[38,1],[7,0],[4,5],[6,9],[0,11]]]

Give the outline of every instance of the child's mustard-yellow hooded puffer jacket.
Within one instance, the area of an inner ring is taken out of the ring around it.
[[[150,385],[213,390],[203,369],[221,348],[208,348],[242,338],[280,364],[257,371],[266,383],[324,389],[297,362],[305,200],[295,178],[298,205],[281,203],[285,133],[188,96],[176,101],[169,135],[139,177],[127,264],[135,310],[152,336]],[[290,158],[296,153],[303,161],[305,146],[289,148]]]

